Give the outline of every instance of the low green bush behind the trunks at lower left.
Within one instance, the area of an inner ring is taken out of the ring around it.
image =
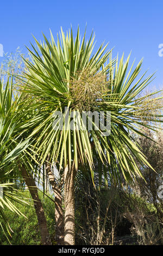
[[[23,196],[26,196],[28,198],[30,197],[30,194],[27,191],[23,192],[22,194]],[[54,202],[46,196],[43,197],[42,192],[39,192],[39,197],[42,201],[43,209],[45,210],[49,235],[51,236],[53,244],[55,244]],[[14,231],[14,233],[11,233],[11,244],[41,245],[39,226],[37,223],[37,216],[32,200],[30,205],[20,205],[18,203],[15,203],[15,206],[17,206],[17,208],[27,218],[22,215],[18,216],[15,212],[11,212],[9,209],[5,208],[4,214],[8,217],[10,227],[12,231]],[[0,245],[9,245],[8,240],[2,232],[0,233]]]

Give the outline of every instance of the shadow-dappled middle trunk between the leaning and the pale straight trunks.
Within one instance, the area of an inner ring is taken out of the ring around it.
[[[46,170],[48,173],[49,182],[52,186],[55,196],[55,234],[57,239],[57,245],[64,245],[64,212],[62,209],[62,194],[61,184],[57,184],[54,179],[54,175],[51,170],[51,164],[46,162]]]

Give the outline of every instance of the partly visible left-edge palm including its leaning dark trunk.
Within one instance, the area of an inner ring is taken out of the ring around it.
[[[22,102],[22,95],[20,97],[14,95],[12,86],[12,78],[10,77],[8,78],[7,84],[5,85],[3,85],[3,83],[0,81],[1,187],[5,186],[6,189],[6,187],[10,188],[11,185],[12,187],[16,186],[17,180],[22,183],[23,179],[23,182],[26,182],[26,185],[29,188],[29,192],[34,200],[34,207],[39,223],[42,244],[50,245],[51,241],[49,241],[45,214],[43,211],[41,200],[39,199],[35,180],[30,170],[31,168],[34,169],[36,165],[36,163],[33,162],[33,160],[30,159],[28,156],[29,153],[27,151],[27,148],[29,147],[31,142],[29,142],[29,139],[26,139],[26,136],[23,135],[23,132],[25,132],[26,129],[24,127],[21,127],[22,119],[20,119],[18,115],[18,113],[21,111],[20,107],[22,107],[20,104]],[[5,87],[5,89],[3,89],[3,87]],[[14,189],[14,191],[16,193],[16,191],[18,191],[18,188],[17,190]],[[11,192],[10,197],[14,199],[14,196],[12,196]],[[18,196],[16,198],[18,198]],[[5,203],[4,199],[5,197],[1,198],[4,204],[6,204],[10,209],[14,209],[15,211],[17,211],[17,213],[20,213],[20,211],[18,211],[11,202]],[[12,205],[12,207],[10,207],[10,205]],[[2,220],[4,221],[4,217]]]

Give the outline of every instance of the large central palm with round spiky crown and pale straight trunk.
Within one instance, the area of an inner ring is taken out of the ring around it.
[[[150,116],[148,109],[143,113],[146,98],[137,100],[153,75],[143,80],[143,74],[136,80],[142,60],[136,68],[132,65],[127,74],[129,57],[126,62],[122,57],[119,64],[116,59],[115,65],[111,51],[105,52],[107,45],[102,44],[92,55],[95,35],[91,34],[86,41],[84,34],[80,41],[79,28],[76,39],[72,29],[66,36],[61,30],[57,43],[52,33],[50,41],[44,38],[43,44],[35,39],[37,47],[32,45],[33,51],[28,48],[32,60],[25,60],[27,71],[22,79],[27,79],[28,84],[23,92],[32,95],[35,102],[31,101],[24,112],[33,113],[30,122],[35,122],[36,127],[29,137],[39,133],[34,148],[41,164],[50,155],[50,161],[59,164],[64,175],[65,245],[74,245],[74,179],[78,166],[88,164],[93,180],[93,155],[97,154],[103,166],[109,164],[101,175],[106,177],[110,172],[117,181],[123,174],[127,182],[137,175],[142,177],[134,157],[142,168],[149,166],[130,131],[143,136],[140,126],[154,129],[144,120],[158,121],[156,116]],[[57,111],[62,115],[58,116]],[[111,112],[110,136],[97,129],[95,120],[89,119],[94,129],[83,129],[86,128],[82,119],[84,111],[96,111],[98,115],[103,111],[105,121]],[[60,121],[63,121],[62,129],[58,125]]]

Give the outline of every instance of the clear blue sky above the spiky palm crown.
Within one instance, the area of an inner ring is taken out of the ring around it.
[[[49,38],[49,28],[55,37],[60,27],[66,31],[79,24],[83,33],[87,23],[87,36],[92,28],[96,33],[97,46],[102,41],[115,46],[125,56],[131,51],[136,63],[144,57],[143,70],[156,72],[152,87],[162,88],[163,57],[159,57],[159,44],[163,44],[162,0],[2,0],[0,2],[0,44],[4,52],[15,51],[17,46],[26,51],[29,41],[42,39],[41,32]],[[1,58],[0,58],[1,62]]]

